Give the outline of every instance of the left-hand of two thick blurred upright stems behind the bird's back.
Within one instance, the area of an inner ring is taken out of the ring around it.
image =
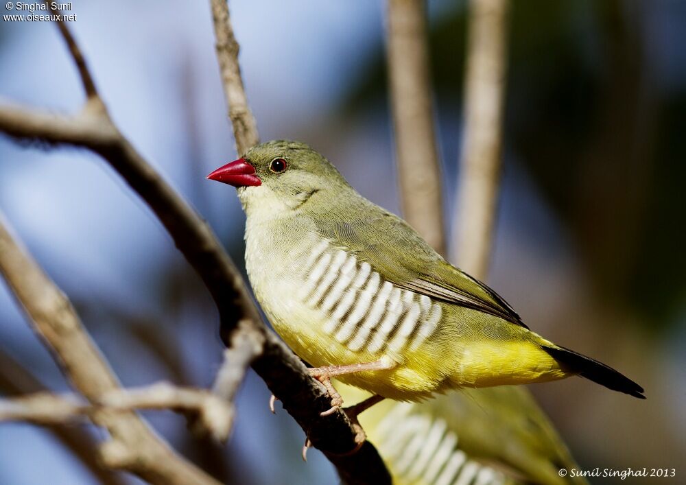
[[[445,254],[424,0],[388,0],[387,44],[403,217]]]

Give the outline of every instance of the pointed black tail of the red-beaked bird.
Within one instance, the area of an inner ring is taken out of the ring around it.
[[[602,362],[593,360],[591,357],[586,357],[580,353],[570,351],[569,348],[565,347],[555,348],[544,346],[543,350],[546,351],[550,357],[560,362],[560,364],[563,364],[563,366],[568,366],[571,372],[578,372],[582,377],[597,382],[608,389],[625,392],[626,394],[639,399],[646,399],[646,397],[643,396],[643,388],[641,388],[641,386],[628,377],[624,377],[624,375],[620,374],[615,369],[602,364]]]

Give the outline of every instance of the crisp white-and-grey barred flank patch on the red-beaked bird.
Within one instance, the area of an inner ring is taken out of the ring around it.
[[[328,314],[324,332],[351,351],[416,351],[438,328],[438,303],[384,281],[369,263],[327,240],[314,246],[303,268],[300,300]]]

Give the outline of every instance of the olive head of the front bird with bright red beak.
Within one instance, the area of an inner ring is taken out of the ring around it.
[[[328,199],[351,189],[322,155],[305,143],[285,140],[255,145],[207,178],[236,187],[248,215],[276,216],[300,209],[313,196]]]

